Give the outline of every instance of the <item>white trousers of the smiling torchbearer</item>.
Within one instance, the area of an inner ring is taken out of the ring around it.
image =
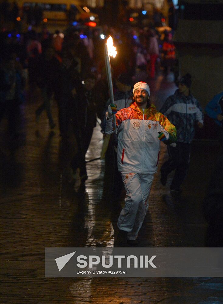
[[[135,240],[148,210],[148,198],[154,174],[121,172],[126,197],[118,218],[118,228],[128,232],[128,240]]]

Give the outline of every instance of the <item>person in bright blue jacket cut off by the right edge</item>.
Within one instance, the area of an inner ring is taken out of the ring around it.
[[[214,122],[219,126],[218,140],[220,141],[223,151],[223,92],[215,95],[204,109],[207,115],[214,119]]]

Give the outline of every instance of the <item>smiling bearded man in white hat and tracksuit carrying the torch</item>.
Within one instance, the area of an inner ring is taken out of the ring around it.
[[[126,190],[125,205],[118,219],[120,246],[137,245],[138,232],[148,210],[148,197],[157,171],[160,141],[176,141],[176,128],[151,105],[150,89],[140,81],[133,88],[133,103],[117,112],[111,104],[106,113],[106,133],[118,134],[118,171]]]

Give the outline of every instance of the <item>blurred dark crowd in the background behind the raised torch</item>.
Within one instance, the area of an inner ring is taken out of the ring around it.
[[[139,80],[155,79],[161,70],[167,77],[173,71],[176,58],[172,33],[161,34],[154,27],[122,30],[107,26],[99,29],[70,27],[64,33],[59,30],[50,33],[43,26],[40,33],[32,29],[26,33],[3,31],[0,51],[2,112],[9,112],[6,101],[10,98],[21,105],[25,95],[29,96],[26,94],[29,90],[39,88],[43,104],[37,109],[37,121],[45,109],[50,127],[54,128],[51,101],[55,99],[62,136],[67,124],[62,112],[70,108],[75,89],[91,74],[99,96],[96,112],[102,118],[109,98],[104,63],[104,43],[109,35],[113,37],[118,53],[111,59],[114,91],[117,90],[115,80],[120,74],[128,74],[130,85],[133,85]],[[9,91],[13,93],[10,95]]]

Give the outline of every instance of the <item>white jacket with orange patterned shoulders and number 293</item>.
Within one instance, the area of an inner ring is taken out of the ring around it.
[[[112,120],[107,119],[106,134],[114,132]],[[175,126],[154,105],[143,113],[135,103],[117,112],[116,124],[118,171],[154,174],[160,154],[158,132],[163,132],[168,139],[164,143],[175,142]]]

